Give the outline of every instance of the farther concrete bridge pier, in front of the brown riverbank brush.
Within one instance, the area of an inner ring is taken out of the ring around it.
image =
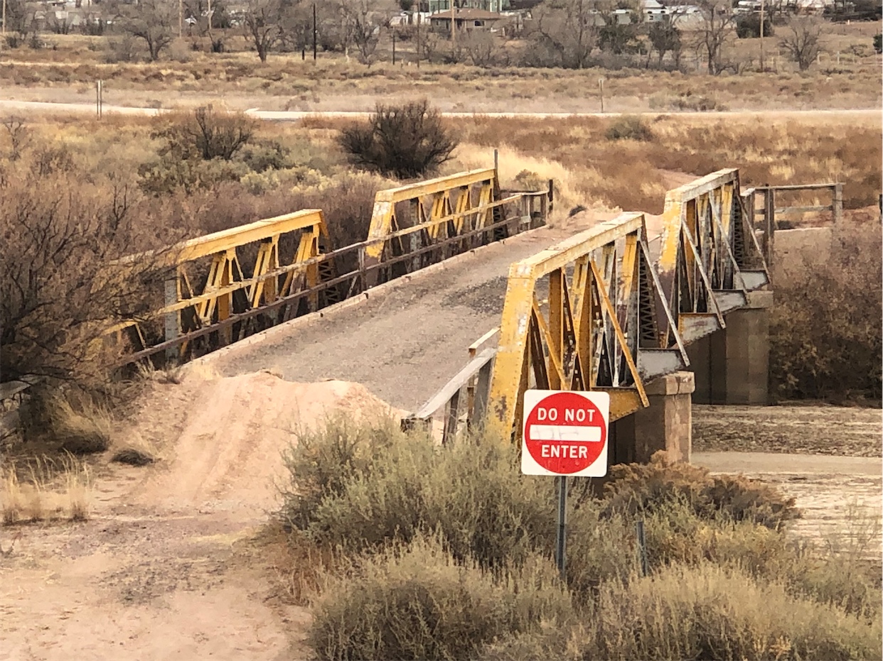
[[[766,405],[772,306],[773,292],[750,292],[748,307],[729,312],[725,329],[687,345],[694,402]]]

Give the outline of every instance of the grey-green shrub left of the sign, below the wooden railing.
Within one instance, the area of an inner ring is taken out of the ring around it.
[[[283,516],[321,544],[360,551],[439,529],[458,560],[501,567],[555,539],[551,480],[522,476],[515,449],[490,439],[437,447],[341,421],[301,439],[288,464]]]

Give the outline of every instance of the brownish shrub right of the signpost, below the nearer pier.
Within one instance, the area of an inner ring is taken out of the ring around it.
[[[772,486],[742,476],[711,475],[691,464],[670,464],[657,452],[650,464],[620,464],[611,469],[605,486],[607,512],[652,512],[673,501],[689,503],[703,519],[751,521],[781,530],[797,518],[793,498]]]

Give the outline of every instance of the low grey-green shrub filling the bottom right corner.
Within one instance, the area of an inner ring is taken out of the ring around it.
[[[673,566],[612,581],[578,624],[510,635],[483,658],[854,659],[879,658],[879,620],[758,583],[731,568]]]

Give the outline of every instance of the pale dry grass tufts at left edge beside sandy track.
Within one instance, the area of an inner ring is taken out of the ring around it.
[[[85,521],[92,473],[68,454],[33,457],[0,466],[0,515],[4,525],[39,521]]]

